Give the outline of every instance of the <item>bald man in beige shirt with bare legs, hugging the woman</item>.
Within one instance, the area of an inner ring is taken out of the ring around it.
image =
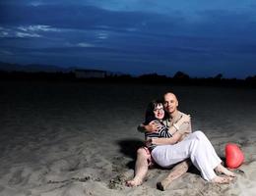
[[[164,110],[169,115],[169,119],[166,119],[164,123],[166,126],[168,126],[169,131],[172,133],[174,132],[175,134],[173,134],[173,137],[170,138],[153,138],[150,142],[156,145],[174,144],[182,140],[186,134],[191,132],[190,121],[188,123],[178,123],[181,117],[185,114],[177,110],[178,100],[176,96],[173,93],[167,92],[163,95],[163,100]],[[158,127],[159,125],[156,123],[149,123],[148,125],[139,126],[138,129],[144,131],[157,131]],[[149,151],[147,151],[147,149],[138,149],[135,165],[135,176],[132,180],[127,181],[128,186],[137,186],[143,182],[148,172],[150,160],[151,154]],[[165,190],[166,187],[171,183],[171,181],[178,178],[183,173],[187,172],[189,166],[189,161],[183,161],[173,167],[172,171],[168,174],[168,176],[157,184],[158,188],[160,190]]]

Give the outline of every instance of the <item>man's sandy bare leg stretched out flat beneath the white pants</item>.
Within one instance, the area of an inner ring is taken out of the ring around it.
[[[188,171],[188,168],[191,166],[190,160],[185,160],[175,167],[172,168],[171,172],[168,174],[166,178],[158,182],[157,187],[160,190],[166,190],[168,185],[176,178],[180,177],[182,174]]]

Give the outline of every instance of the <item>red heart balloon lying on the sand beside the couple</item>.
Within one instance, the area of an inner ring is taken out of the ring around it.
[[[236,144],[228,143],[225,145],[225,165],[229,169],[236,169],[244,161],[244,156]]]

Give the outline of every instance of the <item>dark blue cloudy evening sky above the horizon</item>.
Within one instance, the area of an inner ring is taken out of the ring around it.
[[[1,0],[0,61],[244,78],[256,74],[255,10],[253,0]]]

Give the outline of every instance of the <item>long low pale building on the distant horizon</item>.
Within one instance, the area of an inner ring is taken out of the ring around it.
[[[98,70],[75,70],[77,78],[103,78],[106,76],[106,71]]]

